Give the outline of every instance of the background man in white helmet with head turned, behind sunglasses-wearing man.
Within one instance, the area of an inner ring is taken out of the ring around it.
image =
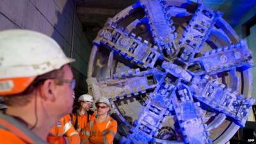
[[[95,113],[90,109],[93,98],[91,95],[84,94],[78,98],[79,108],[74,108],[71,114],[72,125],[79,132],[81,140],[85,136],[85,127],[90,120],[95,119]]]

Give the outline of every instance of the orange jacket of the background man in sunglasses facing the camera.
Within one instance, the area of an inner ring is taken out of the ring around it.
[[[117,131],[117,122],[110,116],[104,122],[91,120],[86,126],[86,136],[81,141],[81,144],[113,144]]]

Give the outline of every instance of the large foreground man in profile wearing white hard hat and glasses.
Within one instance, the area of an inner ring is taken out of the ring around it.
[[[0,32],[0,141],[47,143],[56,122],[72,111],[75,81],[61,47],[28,30]]]

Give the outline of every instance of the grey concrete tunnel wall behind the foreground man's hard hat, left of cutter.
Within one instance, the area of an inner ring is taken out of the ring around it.
[[[80,95],[87,92],[87,64],[92,45],[74,15],[74,8],[72,0],[1,0],[0,30],[31,29],[54,38],[67,56],[76,59],[72,63],[72,71],[77,81],[76,94]]]

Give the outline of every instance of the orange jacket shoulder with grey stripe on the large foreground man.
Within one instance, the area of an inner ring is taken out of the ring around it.
[[[47,144],[41,138],[31,132],[24,124],[20,124],[12,116],[0,113],[0,143],[24,144],[42,143]]]

